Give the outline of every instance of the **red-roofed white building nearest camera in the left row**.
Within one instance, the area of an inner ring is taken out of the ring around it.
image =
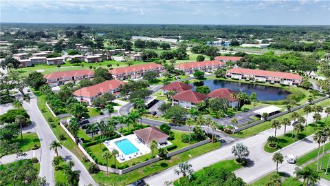
[[[102,96],[104,93],[109,92],[115,94],[115,92],[120,91],[120,87],[124,85],[124,81],[118,80],[108,80],[90,87],[83,87],[74,92],[74,97],[80,102],[86,102],[87,105],[91,103],[98,97]]]

